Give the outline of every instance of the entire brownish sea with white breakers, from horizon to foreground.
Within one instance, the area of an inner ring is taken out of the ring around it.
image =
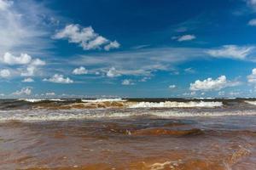
[[[0,169],[256,169],[256,99],[2,99]]]

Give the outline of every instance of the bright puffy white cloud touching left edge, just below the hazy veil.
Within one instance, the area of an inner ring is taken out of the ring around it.
[[[3,57],[0,56],[0,62],[7,65],[26,65],[30,63],[32,57],[28,54],[20,54],[20,56],[14,56],[9,52],[5,53]]]

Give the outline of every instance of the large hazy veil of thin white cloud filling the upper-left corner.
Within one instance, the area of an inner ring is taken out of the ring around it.
[[[53,12],[44,3],[0,0],[0,56],[6,52],[42,54],[52,47],[45,18]]]

